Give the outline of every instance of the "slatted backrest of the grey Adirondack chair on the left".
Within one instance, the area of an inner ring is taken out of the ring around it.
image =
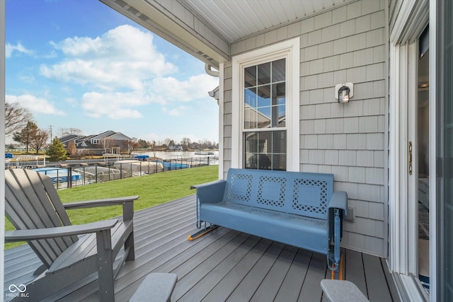
[[[55,190],[52,180],[33,170],[5,171],[6,216],[18,230],[70,226],[71,221]],[[78,240],[77,236],[31,240],[28,242],[40,260],[52,262]]]

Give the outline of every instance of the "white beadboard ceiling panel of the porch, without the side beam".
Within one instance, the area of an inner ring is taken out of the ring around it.
[[[178,0],[228,42],[352,0]]]

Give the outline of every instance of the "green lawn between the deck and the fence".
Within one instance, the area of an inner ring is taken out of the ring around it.
[[[218,165],[173,170],[137,178],[126,178],[124,180],[113,180],[93,185],[73,187],[71,189],[59,190],[58,194],[63,203],[139,195],[139,199],[134,202],[134,211],[138,211],[155,206],[156,204],[162,204],[194,194],[195,192],[190,190],[190,185],[217,180],[218,171]],[[73,224],[82,224],[121,216],[122,207],[75,209],[67,213]],[[5,230],[13,230],[14,227],[8,219],[5,219],[5,221]],[[6,243],[5,249],[13,248],[20,244],[22,243]]]

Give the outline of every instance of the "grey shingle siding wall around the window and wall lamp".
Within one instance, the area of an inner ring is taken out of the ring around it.
[[[386,255],[385,1],[356,1],[231,45],[231,54],[300,37],[300,170],[333,173],[355,220],[343,246]],[[231,64],[224,65],[224,173],[231,166]],[[349,103],[334,98],[354,83]]]

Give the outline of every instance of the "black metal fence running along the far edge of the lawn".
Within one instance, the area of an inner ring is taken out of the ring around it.
[[[44,166],[37,162],[21,162],[16,168],[38,170],[48,175],[57,189],[107,182],[136,176],[218,164],[214,156],[175,158],[156,161],[66,161]],[[13,167],[9,167],[13,168]]]

